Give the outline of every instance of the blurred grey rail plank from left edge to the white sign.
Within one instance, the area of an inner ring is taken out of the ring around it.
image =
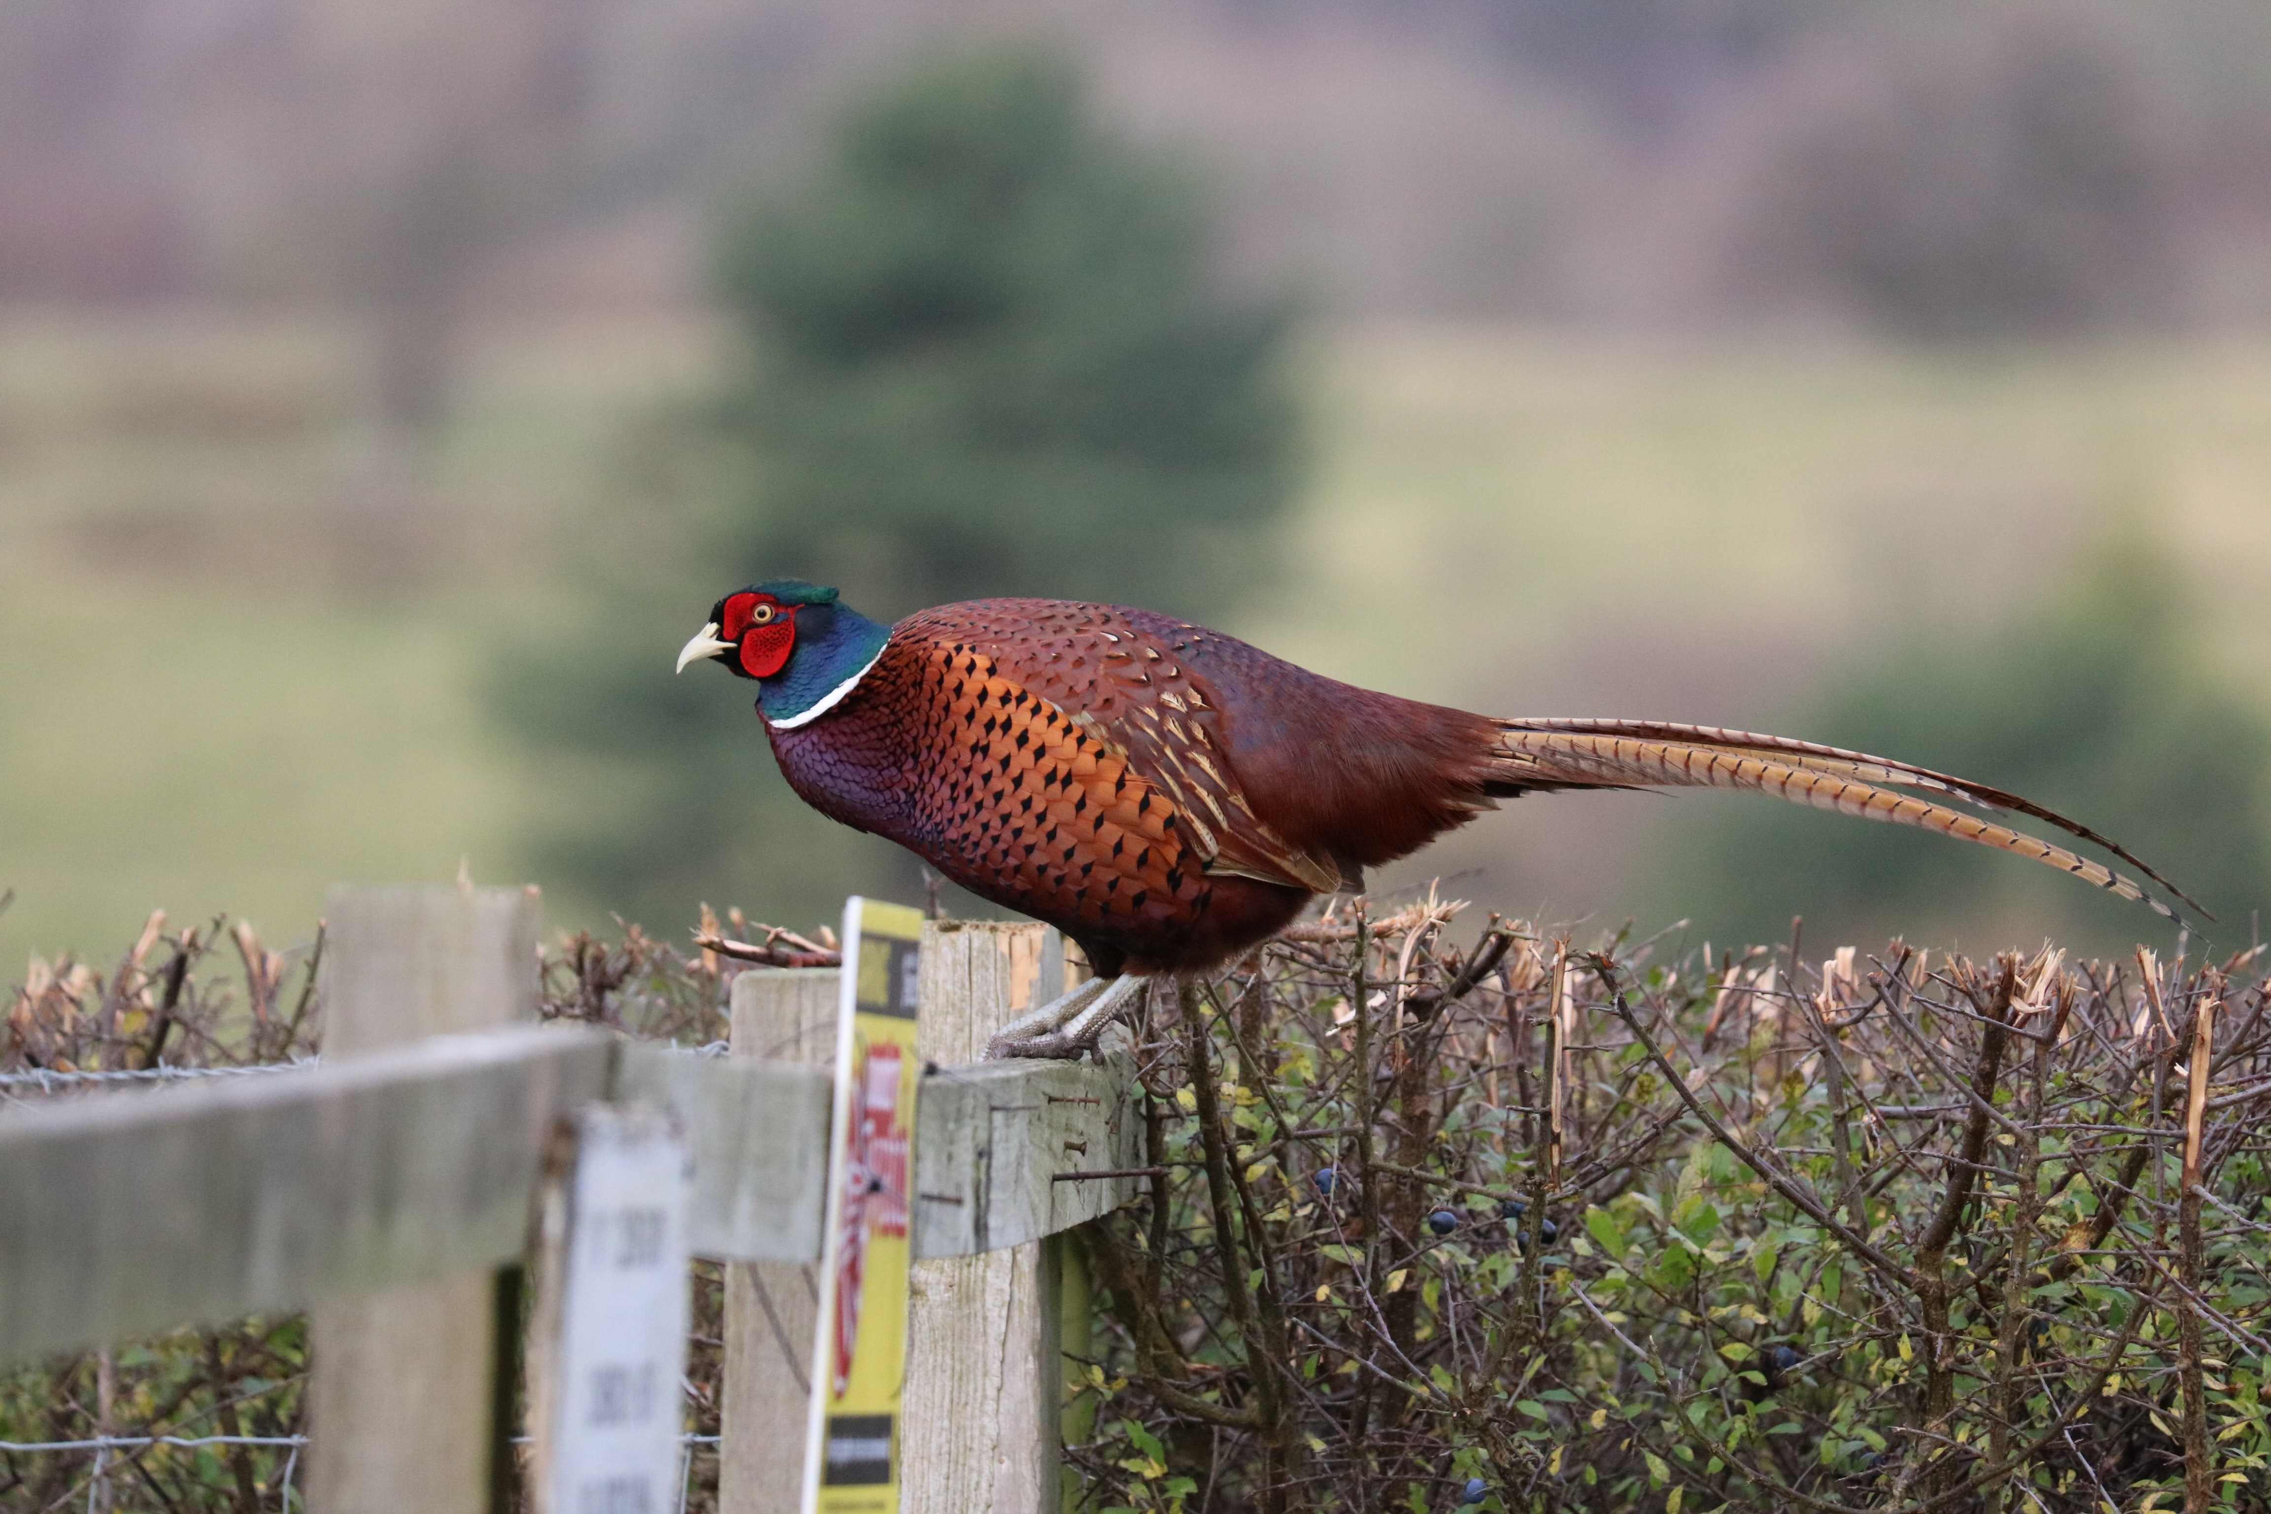
[[[420,1042],[0,1117],[0,1360],[488,1269],[527,1242],[597,1031]]]

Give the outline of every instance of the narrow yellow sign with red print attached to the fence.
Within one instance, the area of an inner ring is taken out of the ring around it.
[[[897,1514],[922,912],[845,901],[804,1514]]]

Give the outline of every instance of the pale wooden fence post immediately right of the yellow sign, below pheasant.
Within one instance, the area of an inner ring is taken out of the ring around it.
[[[1061,992],[1061,983],[1040,985],[1045,947],[1036,924],[924,926],[922,1058],[977,1062],[1011,1010],[1036,1003],[1036,992]],[[1061,949],[1049,956],[1063,962]],[[1058,1507],[1056,1239],[915,1262],[899,1421],[906,1514]]]

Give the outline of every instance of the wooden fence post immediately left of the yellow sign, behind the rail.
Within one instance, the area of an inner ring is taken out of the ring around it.
[[[759,967],[734,978],[734,1055],[836,1060],[833,967]],[[727,1262],[718,1514],[795,1514],[804,1489],[813,1264]]]

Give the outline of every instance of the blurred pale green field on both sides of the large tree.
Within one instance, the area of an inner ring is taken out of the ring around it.
[[[438,567],[402,586],[334,531],[368,461],[347,334],[0,320],[9,974],[114,951],[157,906],[282,942],[334,881],[461,858],[522,878],[529,829],[606,804],[609,776],[493,729],[488,647],[575,604],[579,522],[650,497],[631,436],[722,361],[699,322],[491,334],[427,481]],[[2201,656],[2271,704],[2271,343],[1924,359],[1369,329],[1315,340],[1304,379],[1306,504],[1226,629],[1322,672],[1497,713],[1774,724],[1896,626],[1992,633],[2144,522],[2196,592]],[[688,583],[688,613],[715,588]],[[1515,806],[1383,883],[1615,915],[1662,804]]]

